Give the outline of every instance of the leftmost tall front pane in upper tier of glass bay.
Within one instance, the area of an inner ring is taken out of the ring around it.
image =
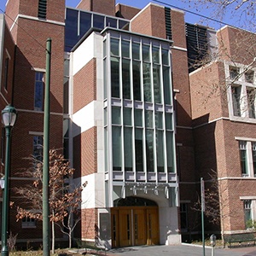
[[[119,59],[111,58],[111,96],[119,98]]]

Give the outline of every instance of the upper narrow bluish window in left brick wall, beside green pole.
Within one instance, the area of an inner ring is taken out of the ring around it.
[[[44,101],[44,73],[36,72],[35,78],[35,98],[34,98],[34,108],[35,110],[43,110]]]

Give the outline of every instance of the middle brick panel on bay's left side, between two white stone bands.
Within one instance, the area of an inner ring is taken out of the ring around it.
[[[83,177],[97,172],[96,127],[73,138],[74,177]]]

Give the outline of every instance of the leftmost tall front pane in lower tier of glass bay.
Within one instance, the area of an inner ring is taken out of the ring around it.
[[[112,145],[113,145],[113,171],[122,169],[122,140],[121,127],[112,126]]]

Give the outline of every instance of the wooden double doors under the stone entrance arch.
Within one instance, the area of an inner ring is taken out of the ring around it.
[[[114,207],[112,247],[159,244],[158,207]]]

